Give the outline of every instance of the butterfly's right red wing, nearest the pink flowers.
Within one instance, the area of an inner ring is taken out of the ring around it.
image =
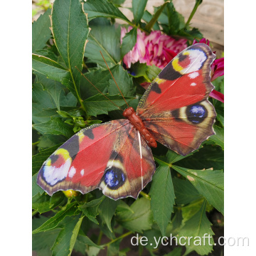
[[[215,110],[207,98],[215,55],[203,43],[179,53],[142,96],[137,114],[154,138],[186,155],[214,134]]]

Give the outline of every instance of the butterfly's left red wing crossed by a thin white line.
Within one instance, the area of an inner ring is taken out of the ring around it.
[[[60,146],[41,167],[38,185],[50,195],[101,188],[114,199],[137,198],[154,169],[151,149],[143,138],[139,140],[132,124],[114,120],[82,129]]]

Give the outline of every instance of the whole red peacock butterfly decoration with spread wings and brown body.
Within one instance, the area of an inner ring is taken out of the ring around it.
[[[117,200],[137,198],[154,174],[150,146],[160,142],[183,156],[215,134],[210,65],[215,55],[203,43],[183,50],[149,85],[126,119],[80,130],[43,163],[37,183],[49,195],[100,188]]]

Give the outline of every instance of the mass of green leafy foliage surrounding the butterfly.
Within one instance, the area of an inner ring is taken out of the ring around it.
[[[146,32],[162,28],[170,36],[188,39],[188,44],[202,38],[170,1],[156,8],[154,14],[144,10],[146,0],[132,1],[133,21],[119,10],[123,2],[87,0],[81,4],[72,0],[71,4],[71,0],[55,0],[50,18],[48,10],[33,23],[33,129],[37,135],[33,141],[32,206],[33,250],[38,255],[64,256],[73,250],[82,255],[97,255],[101,250],[107,250],[107,255],[126,255],[127,249],[119,250],[119,244],[137,233],[152,241],[144,247],[138,245],[137,250],[159,255],[161,243],[156,247],[154,237],[208,233],[212,241],[212,224],[206,212],[215,208],[223,213],[223,103],[216,100],[212,100],[218,114],[216,134],[188,156],[164,146],[154,149],[159,166],[136,201],[113,201],[98,190],[72,198],[59,191],[50,197],[36,184],[43,161],[75,132],[122,117],[78,69],[116,105],[124,106],[101,51],[127,102],[136,108],[144,92],[139,84],[150,82],[159,72],[141,63],[130,70],[122,67],[122,57],[136,43],[137,28]],[[124,38],[122,47],[115,18],[135,28]],[[223,92],[223,79],[213,83]],[[108,241],[105,244],[102,236]],[[181,249],[176,247],[168,255],[182,255]],[[207,255],[213,246],[186,246],[186,254],[192,250]]]

